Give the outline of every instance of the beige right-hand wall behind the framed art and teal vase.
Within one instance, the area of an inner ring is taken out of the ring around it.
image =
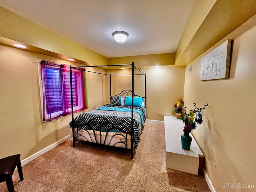
[[[192,108],[194,102],[198,107],[209,104],[203,110],[204,123],[192,133],[204,153],[205,169],[216,191],[255,191],[256,188],[255,34],[256,16],[218,43],[234,40],[229,79],[200,81],[200,58],[217,45],[186,67],[185,105]],[[225,183],[253,184],[254,189],[223,189]]]

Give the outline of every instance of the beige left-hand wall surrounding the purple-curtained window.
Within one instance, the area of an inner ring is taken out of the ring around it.
[[[27,158],[70,133],[71,115],[42,123],[36,62],[42,59],[75,64],[0,44],[0,158],[12,154]],[[102,75],[92,73],[87,73],[87,80],[91,110],[105,102],[105,82]]]

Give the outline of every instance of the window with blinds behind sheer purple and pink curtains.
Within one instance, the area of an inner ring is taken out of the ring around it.
[[[40,62],[40,90],[43,121],[71,114],[70,67],[54,62]],[[86,109],[85,73],[72,69],[74,112]]]

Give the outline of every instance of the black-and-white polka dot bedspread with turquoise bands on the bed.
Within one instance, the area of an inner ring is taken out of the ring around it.
[[[114,130],[132,135],[135,148],[140,142],[140,131],[146,121],[145,107],[134,106],[134,118],[132,127],[132,107],[115,106],[108,103],[104,106],[80,114],[69,123],[70,128],[94,129],[94,130]],[[132,127],[132,128],[131,128]]]

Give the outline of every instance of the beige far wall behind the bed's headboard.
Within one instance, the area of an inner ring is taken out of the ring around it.
[[[142,68],[146,73],[146,112],[147,119],[164,120],[164,115],[172,114],[173,106],[184,91],[185,67]],[[106,74],[131,74],[131,70],[106,70]],[[136,74],[139,74],[136,72]],[[144,76],[135,76],[134,93],[144,96]],[[131,89],[130,76],[111,78],[112,95],[124,89]],[[109,81],[106,79],[106,89]],[[109,101],[109,90],[106,90]],[[158,115],[158,112],[161,115]]]

